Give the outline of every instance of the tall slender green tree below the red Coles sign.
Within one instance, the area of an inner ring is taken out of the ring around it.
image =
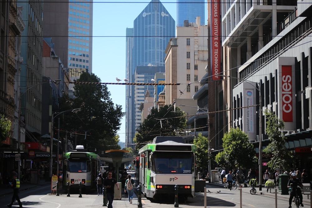
[[[266,115],[266,135],[270,139],[270,144],[266,146],[263,152],[271,154],[271,160],[267,165],[271,168],[283,168],[289,170],[294,164],[294,158],[291,156],[289,149],[286,148],[286,138],[282,135],[284,130],[284,121],[269,110],[265,111]]]

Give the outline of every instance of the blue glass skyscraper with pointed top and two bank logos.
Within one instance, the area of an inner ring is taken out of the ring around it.
[[[132,29],[132,28],[131,28]],[[163,66],[164,51],[171,37],[175,35],[175,21],[163,6],[156,0],[150,2],[134,20],[133,31],[127,28],[127,78],[134,82],[137,66]],[[131,37],[133,32],[133,37]],[[129,46],[129,47],[128,47]],[[131,47],[130,47],[131,46]],[[131,65],[129,64],[131,60]],[[133,141],[135,133],[134,86],[126,91],[126,143]]]

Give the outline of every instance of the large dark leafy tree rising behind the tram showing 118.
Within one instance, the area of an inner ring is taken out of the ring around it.
[[[77,82],[100,83],[101,80],[95,74],[82,73]],[[80,109],[60,115],[62,128],[71,132],[67,138],[77,140],[77,144],[83,144],[85,148],[97,147],[100,151],[120,149],[117,131],[124,113],[121,105],[112,102],[107,86],[75,84],[74,95],[74,99],[67,95],[60,99],[59,112]]]

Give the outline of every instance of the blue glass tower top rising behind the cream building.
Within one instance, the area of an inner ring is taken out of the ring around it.
[[[205,1],[204,0],[177,0],[177,25],[182,27],[184,20],[195,22],[200,17],[200,25],[205,24]]]

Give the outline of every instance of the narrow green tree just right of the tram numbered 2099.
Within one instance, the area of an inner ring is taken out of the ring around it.
[[[208,170],[208,139],[199,133],[194,139],[193,144],[196,145],[196,167],[197,170]]]

